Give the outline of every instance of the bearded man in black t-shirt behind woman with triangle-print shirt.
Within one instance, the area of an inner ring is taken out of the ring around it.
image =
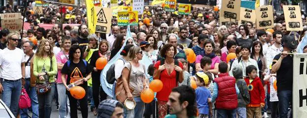
[[[86,47],[89,45],[89,39],[88,39],[89,31],[88,30],[89,29],[87,25],[85,24],[80,25],[78,29],[79,36],[77,37],[77,39],[78,39],[79,46],[81,47],[83,52],[85,52]]]

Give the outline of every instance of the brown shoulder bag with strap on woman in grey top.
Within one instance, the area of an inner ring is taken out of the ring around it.
[[[131,65],[131,63],[130,63],[130,65]],[[129,86],[129,78],[130,78],[131,67],[132,67],[132,65],[130,66],[129,75],[128,75],[128,79],[127,79],[128,86]],[[133,91],[133,89],[131,89],[130,87],[129,87],[129,89],[130,89],[131,92]],[[123,87],[123,77],[122,76],[117,79],[117,83],[116,83],[116,87],[115,87],[115,96],[116,96],[116,99],[118,101],[120,101],[121,103],[123,103],[127,99],[127,92]]]

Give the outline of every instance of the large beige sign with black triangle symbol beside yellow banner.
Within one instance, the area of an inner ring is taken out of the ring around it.
[[[112,9],[95,6],[97,13],[96,31],[102,33],[110,33]]]

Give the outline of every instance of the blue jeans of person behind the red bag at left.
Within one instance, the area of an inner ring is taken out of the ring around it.
[[[25,89],[31,99],[32,118],[38,118],[38,100],[35,87],[31,87],[30,80],[26,80]],[[28,109],[22,109],[20,111],[20,118],[28,118]],[[37,116],[36,116],[37,115]]]

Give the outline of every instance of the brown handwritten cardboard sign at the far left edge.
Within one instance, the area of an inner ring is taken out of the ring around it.
[[[21,13],[6,13],[1,14],[1,28],[9,29],[12,31],[19,31],[22,29],[23,20],[21,19]]]

